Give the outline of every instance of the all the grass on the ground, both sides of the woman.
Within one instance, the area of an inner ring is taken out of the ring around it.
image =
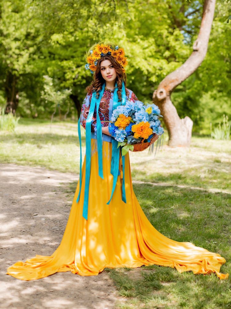
[[[190,148],[170,148],[166,138],[156,157],[130,152],[140,205],[165,236],[224,256],[221,272],[231,275],[231,141],[193,137]],[[20,119],[15,132],[0,132],[0,162],[78,173],[77,123]],[[156,265],[106,271],[125,299],[117,308],[231,308],[230,278]]]

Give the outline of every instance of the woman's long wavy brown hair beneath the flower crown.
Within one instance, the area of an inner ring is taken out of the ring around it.
[[[119,63],[115,60],[114,57],[112,56],[104,56],[102,58],[99,59],[97,66],[96,66],[96,70],[95,70],[95,74],[93,76],[94,80],[92,81],[92,83],[86,88],[87,93],[91,93],[93,91],[96,91],[96,95],[97,98],[99,97],[99,91],[102,89],[102,85],[105,82],[105,80],[103,79],[102,75],[101,75],[101,71],[100,71],[100,63],[103,60],[109,60],[111,61],[111,64],[113,65],[115,72],[117,74],[116,77],[116,82],[118,85],[118,98],[121,101],[121,90],[122,90],[122,82],[124,81],[124,86],[125,86],[125,91],[126,91],[126,95],[129,95],[128,90],[126,89],[126,74],[123,72],[121,66],[119,65]]]

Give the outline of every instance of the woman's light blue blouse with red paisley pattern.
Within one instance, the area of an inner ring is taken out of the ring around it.
[[[129,92],[129,95],[126,96],[126,100],[133,102],[138,101],[134,92],[132,92],[132,90],[130,89],[127,90]],[[84,129],[86,129],[86,121],[91,104],[91,96],[92,93],[86,95],[85,99],[83,100],[83,105],[80,113],[80,123]],[[108,121],[110,121],[112,116],[112,106],[113,106],[113,90],[107,89],[105,87],[102,99],[99,104],[99,118],[101,120],[102,127],[108,126]],[[96,132],[96,109],[93,114],[91,122],[91,138],[96,139],[95,132]],[[102,139],[103,141],[111,142],[111,136],[107,134],[103,134]]]

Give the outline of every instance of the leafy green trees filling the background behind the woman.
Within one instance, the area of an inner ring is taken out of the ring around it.
[[[218,0],[205,60],[172,101],[194,130],[231,117],[230,2]],[[0,2],[0,105],[14,97],[21,116],[75,115],[91,82],[86,50],[99,41],[124,47],[127,87],[144,101],[190,55],[203,1],[11,0]],[[56,93],[56,95],[54,95]]]

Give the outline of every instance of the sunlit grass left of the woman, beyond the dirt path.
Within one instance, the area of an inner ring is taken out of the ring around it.
[[[1,163],[79,173],[79,156],[77,123],[20,119],[15,132],[0,132]]]

